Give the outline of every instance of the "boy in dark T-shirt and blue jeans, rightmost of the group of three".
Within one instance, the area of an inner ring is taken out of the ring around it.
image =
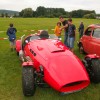
[[[75,41],[75,32],[76,32],[76,27],[72,23],[72,19],[68,19],[68,46],[72,52],[74,52],[74,41]]]

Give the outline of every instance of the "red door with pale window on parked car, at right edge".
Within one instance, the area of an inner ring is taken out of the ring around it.
[[[100,28],[95,28],[93,30],[90,45],[91,45],[90,53],[97,54],[100,56]]]

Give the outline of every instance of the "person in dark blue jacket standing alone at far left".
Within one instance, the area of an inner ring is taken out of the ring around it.
[[[9,37],[11,51],[13,51],[15,49],[15,44],[16,44],[15,42],[16,42],[17,30],[16,30],[16,28],[13,27],[12,23],[9,26],[10,27],[7,30],[7,35]]]

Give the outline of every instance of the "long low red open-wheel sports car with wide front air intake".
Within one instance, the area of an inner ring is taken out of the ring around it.
[[[82,63],[47,31],[17,40],[16,51],[22,60],[22,87],[25,96],[32,96],[36,86],[45,83],[58,92],[72,93],[87,87],[90,84],[89,76],[95,82],[100,82],[100,77],[92,70],[91,55]],[[98,67],[95,64],[92,66],[94,69]]]

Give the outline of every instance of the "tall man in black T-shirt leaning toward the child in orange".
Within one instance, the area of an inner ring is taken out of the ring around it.
[[[62,16],[59,17],[63,27],[61,27],[61,31],[64,30],[64,44],[68,47],[68,21],[65,20]]]

